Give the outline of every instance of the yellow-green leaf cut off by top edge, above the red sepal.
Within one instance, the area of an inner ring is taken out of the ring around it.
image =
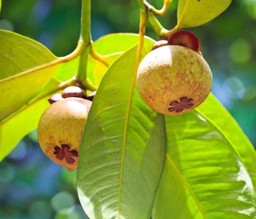
[[[177,19],[181,28],[203,25],[218,17],[232,0],[179,0]]]

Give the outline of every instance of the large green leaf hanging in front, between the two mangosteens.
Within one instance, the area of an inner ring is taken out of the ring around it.
[[[164,120],[137,91],[136,54],[137,46],[108,69],[84,128],[77,186],[91,219],[151,215],[165,159]]]

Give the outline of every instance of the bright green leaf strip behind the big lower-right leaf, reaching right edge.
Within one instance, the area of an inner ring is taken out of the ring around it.
[[[256,189],[256,152],[236,120],[212,94],[207,97],[196,111],[211,119],[230,140],[241,156]]]

